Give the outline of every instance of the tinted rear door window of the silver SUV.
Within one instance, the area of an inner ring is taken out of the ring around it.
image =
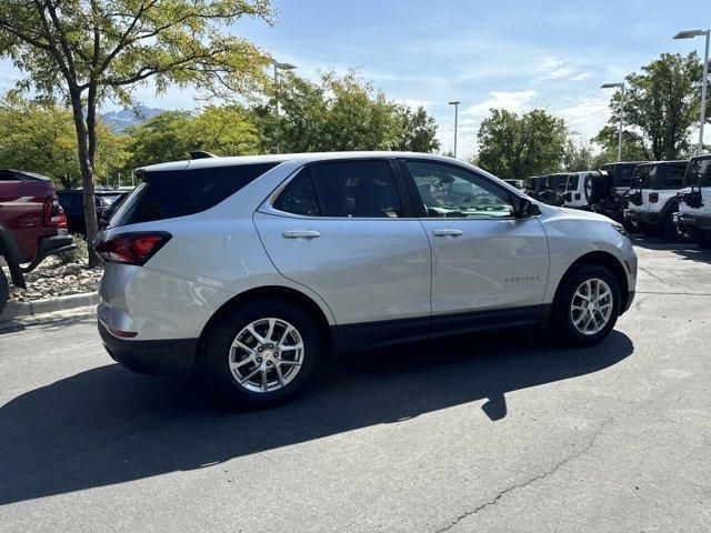
[[[337,161],[304,168],[273,204],[304,217],[381,219],[402,217],[388,161]]]

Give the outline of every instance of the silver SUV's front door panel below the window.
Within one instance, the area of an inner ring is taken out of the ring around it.
[[[548,243],[538,219],[422,220],[432,247],[432,313],[540,305]],[[441,230],[459,237],[437,237]]]

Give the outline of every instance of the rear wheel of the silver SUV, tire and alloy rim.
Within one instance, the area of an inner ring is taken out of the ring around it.
[[[261,300],[234,309],[210,330],[203,370],[223,395],[269,405],[303,386],[321,346],[318,329],[302,309]]]

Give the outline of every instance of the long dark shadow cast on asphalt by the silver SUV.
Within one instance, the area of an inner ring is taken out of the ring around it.
[[[110,364],[0,408],[0,505],[200,469],[482,399],[497,421],[507,415],[505,393],[597,372],[632,352],[618,331],[578,350],[529,330],[423,342],[340,360],[289,403],[261,411],[228,406],[197,379]]]

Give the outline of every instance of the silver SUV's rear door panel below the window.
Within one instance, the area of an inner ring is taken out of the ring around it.
[[[430,248],[417,220],[257,212],[254,223],[277,269],[318,293],[339,324],[430,316]]]

